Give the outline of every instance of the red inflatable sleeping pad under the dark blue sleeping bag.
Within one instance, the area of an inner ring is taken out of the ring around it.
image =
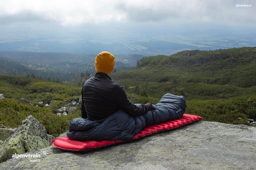
[[[129,141],[136,140],[138,138],[143,138],[147,135],[151,135],[154,133],[171,130],[174,128],[178,128],[180,126],[195,122],[202,119],[200,116],[184,114],[182,118],[170,120],[167,122],[159,123],[157,125],[147,126],[145,129],[140,131],[138,134],[134,135],[133,138]],[[57,138],[51,141],[53,146],[63,149],[63,150],[71,150],[71,151],[86,151],[94,148],[104,147],[108,145],[113,145],[121,142],[127,142],[124,140],[113,140],[113,141],[74,141],[70,140],[67,137]]]

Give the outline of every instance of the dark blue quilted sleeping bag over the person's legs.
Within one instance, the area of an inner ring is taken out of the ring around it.
[[[154,106],[156,110],[136,117],[118,110],[98,121],[72,119],[67,137],[76,141],[129,140],[146,126],[181,118],[186,110],[186,98],[167,93]]]

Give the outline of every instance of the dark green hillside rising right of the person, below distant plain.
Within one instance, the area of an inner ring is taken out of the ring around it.
[[[171,56],[151,56],[137,69],[114,74],[116,80],[206,83],[250,87],[256,85],[256,48],[216,51],[188,50]]]

